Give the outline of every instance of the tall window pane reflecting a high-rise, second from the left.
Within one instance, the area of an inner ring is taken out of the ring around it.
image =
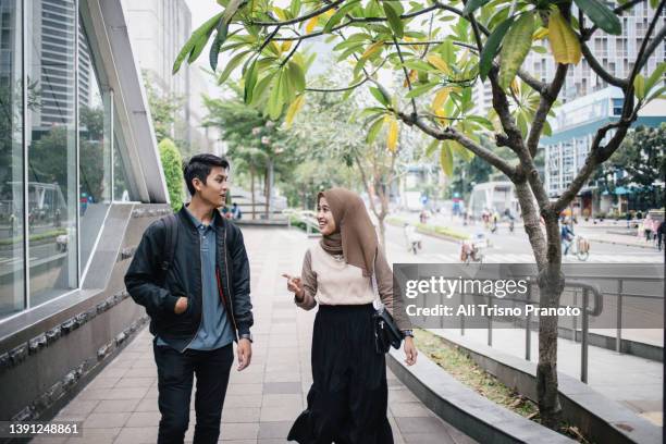
[[[76,288],[77,197],[75,125],[76,36],[42,26],[58,7],[60,26],[76,24],[74,0],[35,0],[27,10],[26,57],[28,87],[34,87],[27,109],[29,306],[34,307]],[[48,45],[47,45],[48,44]],[[53,47],[58,47],[54,50]],[[67,55],[70,54],[70,55]],[[58,81],[46,70],[61,72]]]

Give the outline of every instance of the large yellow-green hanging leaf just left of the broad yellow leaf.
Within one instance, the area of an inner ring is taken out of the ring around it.
[[[532,47],[534,33],[534,14],[527,12],[520,16],[504,37],[499,52],[499,86],[506,90],[516,76]]]

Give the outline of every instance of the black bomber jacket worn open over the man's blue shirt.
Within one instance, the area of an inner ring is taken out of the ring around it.
[[[176,213],[177,242],[173,263],[163,286],[160,285],[160,264],[163,261],[165,230],[155,221],[146,231],[125,274],[125,286],[132,298],[146,307],[150,316],[150,333],[169,345],[184,350],[194,340],[201,323],[201,256],[199,234],[185,207]],[[252,326],[250,273],[240,229],[213,211],[217,234],[218,289],[222,292],[224,308],[233,325],[235,340],[249,334]],[[176,314],[178,297],[188,298],[187,310]]]

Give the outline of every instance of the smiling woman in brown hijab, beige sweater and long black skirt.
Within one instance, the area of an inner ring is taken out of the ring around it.
[[[382,303],[405,335],[408,366],[417,358],[411,324],[399,298],[393,300],[393,274],[361,198],[345,188],[322,192],[317,220],[322,239],[306,252],[301,276],[284,275],[298,307],[310,310],[319,303],[308,407],[287,440],[392,444],[386,361],[374,347],[373,273]]]

